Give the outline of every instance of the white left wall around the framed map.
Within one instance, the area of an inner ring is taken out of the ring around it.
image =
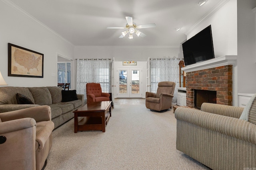
[[[56,86],[57,53],[74,59],[74,45],[14,4],[6,3],[0,1],[0,71],[8,86]],[[8,76],[8,43],[44,54],[44,78]]]

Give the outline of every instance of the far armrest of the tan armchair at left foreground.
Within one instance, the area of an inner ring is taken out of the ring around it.
[[[10,121],[26,117],[34,118],[36,122],[49,121],[51,120],[51,107],[44,105],[0,113],[0,119],[2,121]]]

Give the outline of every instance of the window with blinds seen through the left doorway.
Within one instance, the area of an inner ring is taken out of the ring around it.
[[[70,83],[71,82],[70,76],[71,76],[71,63],[58,63],[58,83]]]

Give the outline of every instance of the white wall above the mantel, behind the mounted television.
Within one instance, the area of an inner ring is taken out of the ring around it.
[[[215,58],[224,55],[237,55],[236,0],[229,0],[216,12],[213,11],[208,18],[205,18],[204,21],[187,34],[187,39],[190,39],[209,25],[212,26]]]

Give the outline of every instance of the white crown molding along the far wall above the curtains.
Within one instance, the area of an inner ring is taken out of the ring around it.
[[[90,46],[90,45],[75,45],[75,47],[89,47],[89,48],[98,48],[98,47],[101,47],[101,48],[132,48],[132,49],[145,49],[145,48],[148,48],[148,49],[151,49],[151,48],[180,48],[180,46]]]

